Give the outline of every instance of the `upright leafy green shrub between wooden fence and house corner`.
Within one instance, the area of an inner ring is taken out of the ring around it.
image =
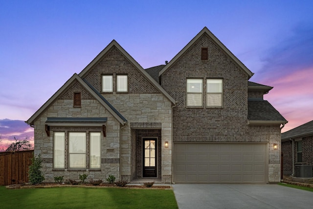
[[[39,185],[45,180],[45,176],[41,170],[43,167],[42,163],[43,159],[40,154],[31,159],[31,165],[28,170],[28,179],[32,185]]]

